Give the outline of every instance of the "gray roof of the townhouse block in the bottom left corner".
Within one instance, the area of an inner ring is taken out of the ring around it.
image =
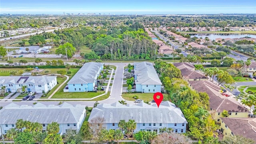
[[[64,102],[61,105],[44,105],[40,102],[33,106],[8,104],[0,110],[0,124],[15,124],[18,119],[30,122],[49,124],[76,124],[83,114],[85,106],[77,104],[75,106]]]

